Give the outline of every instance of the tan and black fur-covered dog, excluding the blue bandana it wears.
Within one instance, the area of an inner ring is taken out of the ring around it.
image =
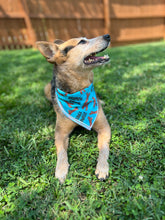
[[[93,82],[94,67],[105,64],[109,57],[98,57],[96,54],[105,50],[110,43],[110,36],[104,35],[93,39],[74,38],[66,42],[55,40],[54,43],[39,41],[37,47],[47,61],[54,64],[53,79],[45,86],[45,95],[53,103],[57,114],[55,129],[55,145],[57,148],[57,165],[55,176],[64,182],[69,168],[67,148],[69,134],[77,124],[68,118],[57,102],[55,91],[65,94],[75,94],[88,88]],[[92,102],[92,101],[91,101]],[[98,133],[99,157],[95,174],[100,180],[108,177],[110,126],[103,113],[100,100],[97,98],[98,114],[93,123],[93,129]],[[77,110],[77,108],[76,108]]]

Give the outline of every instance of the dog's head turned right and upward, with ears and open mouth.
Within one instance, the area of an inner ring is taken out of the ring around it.
[[[109,62],[109,56],[97,56],[110,44],[110,35],[86,39],[73,38],[68,41],[55,40],[54,43],[38,41],[37,47],[50,63],[71,69],[93,69]]]

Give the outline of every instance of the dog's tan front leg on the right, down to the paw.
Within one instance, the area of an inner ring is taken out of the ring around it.
[[[109,176],[109,164],[107,160],[109,158],[111,129],[101,106],[99,108],[99,113],[93,128],[98,132],[99,148],[99,157],[95,174],[98,179],[105,180]]]

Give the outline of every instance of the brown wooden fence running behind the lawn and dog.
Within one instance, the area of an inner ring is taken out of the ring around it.
[[[165,0],[0,0],[0,49],[105,33],[112,46],[165,39]]]

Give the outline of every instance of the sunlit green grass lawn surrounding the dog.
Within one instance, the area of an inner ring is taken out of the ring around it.
[[[112,128],[109,178],[95,177],[94,131],[76,129],[67,180],[55,179],[52,65],[0,51],[0,219],[165,219],[165,42],[107,50],[95,90]]]

